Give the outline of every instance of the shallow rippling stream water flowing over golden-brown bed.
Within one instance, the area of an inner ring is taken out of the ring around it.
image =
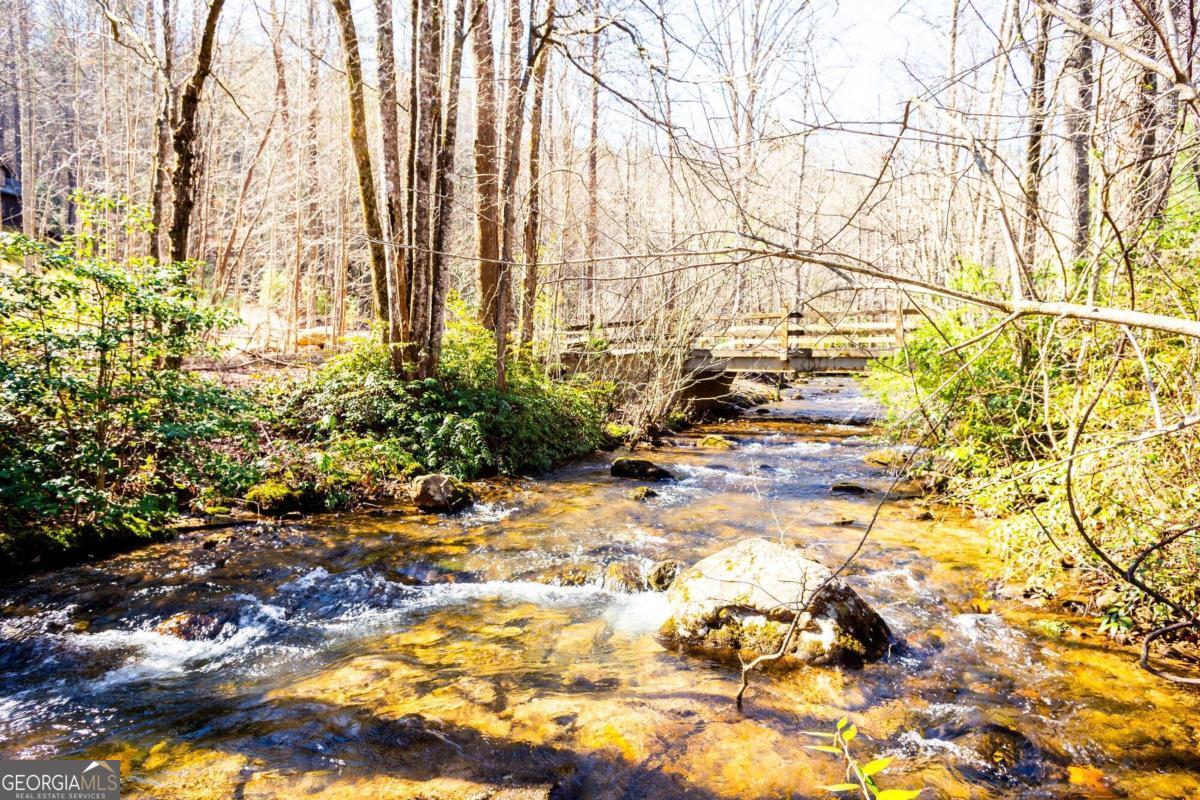
[[[1092,621],[995,599],[985,527],[944,510],[886,504],[848,572],[904,645],[756,675],[744,714],[736,669],[655,640],[664,595],[539,582],[751,535],[839,563],[878,495],[830,483],[888,483],[838,423],[869,410],[814,379],[652,452],[680,480],[647,503],[598,457],[457,516],[264,523],[25,578],[0,593],[0,756],[120,758],[146,798],[816,798],[842,771],[803,730],[848,714],[864,760],[896,756],[882,784],[923,798],[1200,796],[1200,694]],[[737,446],[686,446],[714,432]],[[180,612],[220,631],[155,631]]]

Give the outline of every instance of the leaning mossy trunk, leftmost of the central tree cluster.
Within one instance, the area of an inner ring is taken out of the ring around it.
[[[337,26],[346,58],[346,83],[350,114],[350,149],[354,167],[359,174],[359,200],[362,205],[362,222],[371,252],[371,289],[374,318],[382,325],[383,342],[386,344],[390,330],[388,308],[388,257],[383,246],[383,225],[379,223],[379,206],[376,201],[374,175],[371,167],[371,150],[367,146],[366,106],[362,100],[362,59],[359,55],[359,35],[350,13],[350,0],[332,0],[337,14]]]

